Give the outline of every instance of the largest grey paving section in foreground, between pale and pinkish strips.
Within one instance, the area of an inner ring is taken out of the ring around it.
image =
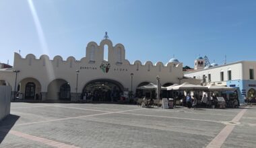
[[[63,120],[15,131],[77,147],[204,147],[213,137],[90,120]]]

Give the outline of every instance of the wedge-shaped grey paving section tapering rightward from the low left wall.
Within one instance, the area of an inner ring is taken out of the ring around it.
[[[73,108],[59,108],[59,107],[12,108],[11,109],[11,114],[20,116],[16,124],[52,120],[57,118],[85,116],[88,114],[99,114],[99,113],[102,113],[102,112],[91,111],[91,110],[86,110],[86,111],[77,110]]]

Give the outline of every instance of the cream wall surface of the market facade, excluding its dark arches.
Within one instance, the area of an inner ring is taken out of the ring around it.
[[[104,45],[108,46],[108,61],[103,60]],[[90,61],[92,59],[92,48],[94,49],[94,61]],[[108,73],[104,73],[100,69],[100,65],[106,62],[110,64]],[[39,59],[36,59],[34,54],[28,54],[26,58],[22,58],[20,54],[15,53],[13,69],[20,70],[18,82],[32,77],[40,83],[42,92],[47,92],[49,89],[52,90],[53,87],[51,85],[53,84],[50,85],[50,83],[55,79],[67,81],[71,87],[71,92],[75,92],[76,70],[80,71],[77,83],[78,93],[82,92],[86,83],[94,79],[119,81],[125,89],[131,90],[131,73],[133,73],[133,92],[141,82],[156,83],[157,75],[160,76],[162,84],[179,83],[178,78],[183,77],[183,63],[172,62],[166,63],[166,65],[162,62],[153,64],[151,61],[143,64],[141,61],[130,63],[125,59],[125,47],[122,44],[113,46],[110,40],[102,40],[99,45],[96,42],[89,42],[86,47],[86,57],[80,60],[76,60],[74,57],[68,57],[67,60],[63,60],[60,56],[55,56],[53,60],[50,60],[47,55],[42,55]],[[15,73],[0,73],[0,79],[9,81],[12,86],[14,85]],[[2,73],[5,74],[2,75]],[[49,98],[55,98],[56,92],[59,92],[59,85],[61,84],[57,83],[56,85],[58,88],[53,91],[55,94],[49,92]]]

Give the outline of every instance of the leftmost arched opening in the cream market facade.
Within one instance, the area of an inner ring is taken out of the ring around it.
[[[27,77],[17,85],[19,99],[40,100],[41,84],[37,79]]]

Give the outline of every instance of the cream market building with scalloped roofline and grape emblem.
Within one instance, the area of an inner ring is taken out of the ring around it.
[[[106,53],[108,59],[104,59]],[[123,44],[113,46],[104,38],[100,44],[89,42],[86,57],[80,60],[63,60],[61,56],[51,60],[47,55],[37,59],[34,54],[23,58],[14,53],[13,67],[0,69],[0,85],[11,86],[12,98],[19,92],[19,98],[26,100],[77,101],[86,97],[96,102],[118,102],[128,92],[135,97],[137,87],[156,83],[158,75],[163,86],[199,83],[183,76],[183,63],[177,59],[165,65],[151,61],[130,63],[125,59]]]

